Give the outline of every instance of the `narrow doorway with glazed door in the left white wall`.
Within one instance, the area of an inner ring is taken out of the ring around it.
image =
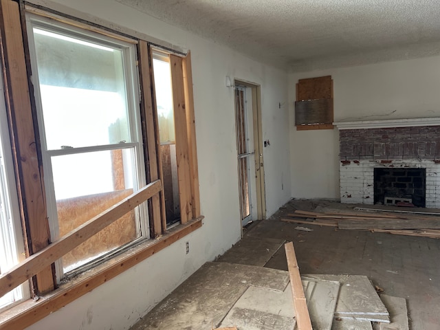
[[[244,226],[266,216],[260,87],[236,80],[234,103],[240,214]]]

